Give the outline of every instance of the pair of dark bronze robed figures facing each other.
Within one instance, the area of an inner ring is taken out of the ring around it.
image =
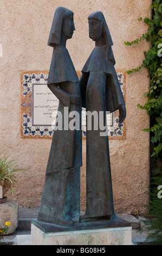
[[[69,113],[79,113],[80,120],[82,107],[86,111],[102,112],[106,126],[106,112],[119,109],[122,123],[126,117],[125,102],[114,69],[113,42],[105,17],[100,11],[88,17],[89,37],[95,41],[95,47],[79,81],[66,48],[66,41],[75,30],[73,15],[66,8],[56,9],[48,41],[53,47],[48,87],[60,101],[58,111],[63,116],[64,107],[68,107]],[[68,117],[68,122],[71,119]],[[86,135],[85,215],[80,216],[80,125],[79,130],[54,131],[38,221],[68,226],[73,225],[77,216],[80,222],[115,218],[108,136],[100,136],[100,126],[93,129],[93,118],[90,121],[92,129]]]

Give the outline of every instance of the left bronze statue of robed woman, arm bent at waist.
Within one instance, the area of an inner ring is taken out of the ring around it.
[[[66,48],[66,41],[75,30],[73,15],[66,8],[56,9],[48,41],[53,47],[48,87],[60,100],[58,112],[68,123],[72,118],[65,117],[64,107],[68,107],[68,114],[77,111],[81,118],[79,78]],[[79,121],[81,124],[81,119]],[[73,225],[72,218],[80,215],[82,135],[81,127],[70,130],[64,126],[54,131],[37,220]]]

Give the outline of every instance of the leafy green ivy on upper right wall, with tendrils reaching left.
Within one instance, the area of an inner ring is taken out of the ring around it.
[[[145,59],[142,64],[132,70],[128,70],[127,74],[138,72],[141,68],[148,69],[148,76],[150,76],[150,89],[144,94],[148,101],[144,106],[138,104],[141,109],[146,109],[147,114],[151,117],[150,129],[143,131],[150,131],[151,142],[155,147],[151,156],[161,156],[162,152],[162,3],[160,0],[153,1],[151,5],[152,19],[145,17],[144,22],[148,25],[146,34],[143,34],[140,39],[132,42],[126,42],[125,45],[139,44],[141,40],[146,39],[151,42],[150,50],[144,52]],[[138,19],[140,22],[142,18]]]

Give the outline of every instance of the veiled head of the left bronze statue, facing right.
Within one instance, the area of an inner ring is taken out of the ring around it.
[[[74,13],[69,9],[58,7],[54,14],[53,23],[51,26],[48,45],[54,47],[60,44],[61,35],[66,39],[70,39],[73,36],[75,30]]]

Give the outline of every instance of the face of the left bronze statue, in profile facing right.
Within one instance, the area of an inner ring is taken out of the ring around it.
[[[70,39],[73,36],[74,30],[73,15],[64,18],[62,22],[62,34],[65,35],[67,39]]]

